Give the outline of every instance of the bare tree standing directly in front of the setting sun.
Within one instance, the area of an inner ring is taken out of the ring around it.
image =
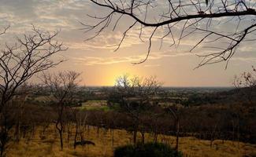
[[[133,143],[136,143],[137,132],[141,130],[144,141],[145,128],[143,126],[144,112],[150,111],[154,107],[154,98],[157,96],[161,83],[155,79],[139,78],[137,76],[129,78],[128,75],[117,79],[115,90],[120,98],[121,108],[132,118]]]

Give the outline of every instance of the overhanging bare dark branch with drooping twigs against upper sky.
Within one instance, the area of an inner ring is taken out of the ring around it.
[[[147,35],[147,55],[144,60],[135,64],[143,63],[147,60],[154,37],[158,38],[161,43],[166,39],[166,41],[172,42],[170,43],[171,46],[177,48],[182,39],[193,35],[195,41],[195,37],[198,36],[197,42],[194,43],[190,51],[200,45],[204,46],[208,51],[208,53],[198,54],[199,57],[202,57],[202,62],[198,64],[198,67],[222,61],[227,61],[226,63],[228,64],[240,44],[251,42],[255,39],[256,3],[254,1],[90,1],[108,10],[103,15],[89,15],[95,19],[95,24],[82,23],[85,32],[95,31],[95,35],[91,38],[100,35],[108,27],[113,30],[117,29],[118,24],[123,19],[126,19],[127,29],[123,31],[121,41],[117,44],[117,49],[119,49],[122,42],[124,42],[124,38],[128,36],[129,31],[132,29],[139,30],[137,35],[143,42],[143,31],[148,31],[147,28],[150,29],[150,35]],[[228,30],[225,29],[227,25],[229,27]],[[180,28],[177,29],[177,27]],[[158,31],[163,33],[159,35]],[[203,43],[206,43],[206,46]]]

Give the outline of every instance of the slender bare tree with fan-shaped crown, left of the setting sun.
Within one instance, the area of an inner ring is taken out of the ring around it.
[[[44,74],[43,83],[50,89],[50,100],[57,112],[55,122],[56,129],[60,136],[61,150],[63,150],[63,129],[65,110],[72,104],[75,98],[80,73],[75,71],[63,71],[58,74]]]

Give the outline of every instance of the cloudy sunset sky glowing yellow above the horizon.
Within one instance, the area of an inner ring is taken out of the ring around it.
[[[195,54],[202,53],[203,49],[194,53],[189,49],[200,35],[185,38],[175,49],[170,47],[171,38],[165,38],[160,46],[159,37],[165,30],[158,31],[154,37],[148,60],[143,64],[132,64],[147,56],[147,37],[152,30],[143,32],[144,42],[139,40],[138,30],[130,31],[121,48],[114,51],[114,45],[120,42],[122,33],[132,21],[124,18],[116,31],[108,29],[97,38],[86,41],[93,33],[85,33],[80,22],[94,24],[95,20],[87,14],[104,15],[107,12],[88,0],[1,0],[0,27],[10,25],[10,28],[6,35],[0,36],[0,46],[13,42],[16,36],[30,33],[32,24],[46,31],[60,31],[58,40],[69,49],[59,57],[66,61],[50,71],[80,72],[81,84],[85,86],[113,86],[117,77],[124,74],[156,76],[164,86],[232,86],[235,75],[250,71],[256,64],[254,42],[248,42],[239,47],[227,69],[225,63],[195,69],[202,60]],[[150,18],[154,19],[154,16]],[[230,29],[227,24],[217,27]],[[175,27],[176,32],[180,29],[180,26]]]

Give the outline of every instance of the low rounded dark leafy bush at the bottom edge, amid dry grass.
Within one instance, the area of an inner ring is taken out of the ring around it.
[[[181,157],[182,153],[178,152],[177,156]],[[129,144],[116,148],[114,157],[176,157],[176,151],[162,143]]]

